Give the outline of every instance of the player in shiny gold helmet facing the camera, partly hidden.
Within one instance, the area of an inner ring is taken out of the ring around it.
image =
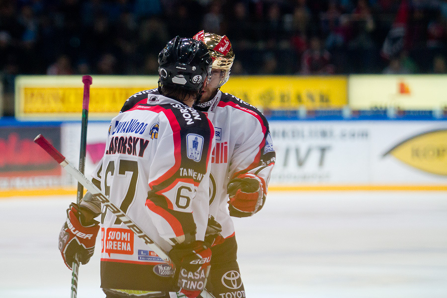
[[[208,116],[216,130],[210,175],[210,215],[216,221],[210,221],[208,229],[215,227],[219,231],[219,224],[222,225],[219,236],[210,235],[208,239],[213,257],[207,289],[215,297],[245,297],[230,216],[250,217],[261,210],[275,164],[275,150],[264,115],[252,105],[220,91],[234,61],[228,38],[201,31],[194,39],[203,41],[213,58],[211,81],[195,108]],[[121,111],[145,100],[144,95],[134,95]]]

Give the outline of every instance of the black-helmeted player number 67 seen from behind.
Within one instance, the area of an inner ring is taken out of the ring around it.
[[[93,182],[133,219],[176,265],[172,270],[144,241],[100,210],[89,193],[72,203],[59,249],[70,268],[74,254],[85,264],[93,254],[101,213],[101,288],[107,298],[197,297],[205,287],[211,249],[205,244],[215,131],[192,108],[207,85],[212,59],[190,38],[172,39],[160,52],[159,87],[110,125],[106,151]],[[182,296],[183,297],[183,296]]]

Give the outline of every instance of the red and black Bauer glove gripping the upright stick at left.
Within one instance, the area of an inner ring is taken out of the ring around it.
[[[76,253],[80,263],[86,264],[90,260],[95,249],[98,230],[99,223],[97,221],[91,220],[84,223],[77,204],[70,205],[70,208],[67,209],[67,221],[59,234],[59,250],[68,268],[72,269]]]

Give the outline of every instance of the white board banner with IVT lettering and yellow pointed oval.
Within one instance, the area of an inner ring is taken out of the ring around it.
[[[447,189],[446,121],[271,121],[272,186]]]

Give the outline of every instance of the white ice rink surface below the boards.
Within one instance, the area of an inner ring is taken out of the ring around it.
[[[0,199],[0,298],[69,298],[57,248],[73,196]],[[248,298],[446,298],[446,192],[270,192],[235,219]],[[78,298],[104,298],[99,250]]]

